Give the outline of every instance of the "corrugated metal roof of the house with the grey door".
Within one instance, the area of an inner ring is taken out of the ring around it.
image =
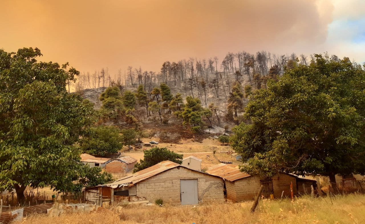
[[[168,169],[172,169],[172,168],[175,168],[175,167],[184,167],[184,168],[190,169],[190,170],[195,171],[195,172],[200,172],[200,171],[196,171],[194,169],[185,167],[183,165],[174,163],[172,161],[166,160],[166,161],[162,161],[161,163],[158,163],[156,165],[153,165],[152,167],[142,169],[141,171],[133,173],[132,175],[125,176],[122,179],[116,180],[112,183],[101,184],[101,185],[98,185],[98,186],[109,186],[109,187],[112,187],[112,188],[128,186],[129,184],[138,183],[142,180],[150,178],[151,176],[154,176],[158,173],[164,172]],[[200,172],[200,173],[203,173],[203,172]],[[213,175],[213,174],[209,174],[209,173],[205,173],[205,174],[212,175],[212,176],[218,176],[218,175]]]

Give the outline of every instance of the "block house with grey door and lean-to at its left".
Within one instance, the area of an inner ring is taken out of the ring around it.
[[[112,183],[87,188],[84,198],[102,205],[114,202],[118,195],[139,197],[151,203],[162,199],[172,205],[224,200],[222,178],[168,160]]]

